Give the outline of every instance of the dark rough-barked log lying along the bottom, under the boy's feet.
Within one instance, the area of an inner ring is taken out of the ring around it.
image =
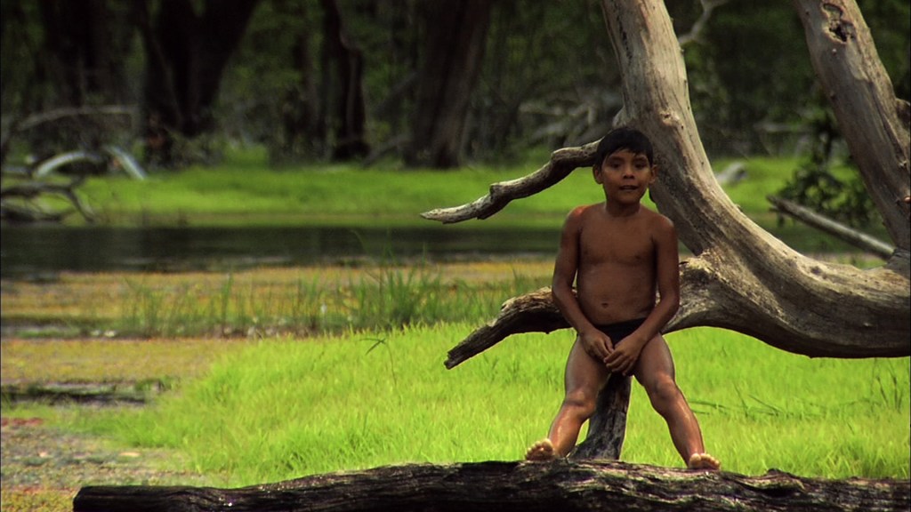
[[[87,486],[74,512],[907,510],[911,482],[701,473],[620,462],[384,466],[235,489]]]

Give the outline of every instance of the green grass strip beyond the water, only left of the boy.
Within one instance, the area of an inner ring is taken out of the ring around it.
[[[509,166],[455,171],[355,164],[268,169],[264,153],[248,149],[217,168],[159,171],[145,181],[91,179],[82,190],[100,217],[115,225],[426,225],[421,212],[475,200],[491,183],[532,172],[547,160],[537,151]],[[599,200],[591,185],[587,173],[574,173],[542,197],[517,202],[502,218],[558,226],[578,201]]]

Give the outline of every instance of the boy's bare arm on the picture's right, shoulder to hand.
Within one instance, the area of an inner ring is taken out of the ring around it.
[[[680,307],[680,255],[677,230],[673,222],[664,217],[658,218],[653,237],[657,272],[655,280],[658,283],[660,301],[640,328],[630,334],[624,343],[620,343],[618,349],[605,360],[604,363],[613,372],[629,374],[635,367],[645,343],[649,343],[664,329]]]

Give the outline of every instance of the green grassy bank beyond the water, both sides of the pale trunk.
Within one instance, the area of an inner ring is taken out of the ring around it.
[[[220,166],[157,171],[145,181],[125,176],[89,179],[81,189],[99,220],[114,226],[423,226],[420,213],[460,205],[486,194],[491,183],[517,179],[546,164],[549,151],[496,165],[448,171],[402,169],[394,163],[309,164],[270,169],[265,151],[231,152]],[[792,220],[782,222],[765,200],[777,193],[799,159],[740,160],[745,178],[725,191],[752,220],[799,251],[854,251],[844,242]],[[731,160],[712,162],[724,169]],[[846,169],[842,169],[846,172]],[[558,229],[579,204],[603,200],[589,169],[577,169],[556,186],[515,200],[484,221],[449,229],[536,227]],[[648,200],[647,200],[648,202]],[[76,216],[69,219],[78,224]],[[871,227],[875,236],[885,231]]]

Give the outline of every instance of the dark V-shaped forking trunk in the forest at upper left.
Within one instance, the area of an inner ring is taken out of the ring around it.
[[[207,0],[197,15],[189,0],[169,0],[160,3],[154,26],[148,0],[136,5],[146,49],[143,109],[149,151],[168,150],[173,133],[194,138],[214,128],[212,108],[222,73],[258,3]],[[159,155],[164,163],[171,157]]]

